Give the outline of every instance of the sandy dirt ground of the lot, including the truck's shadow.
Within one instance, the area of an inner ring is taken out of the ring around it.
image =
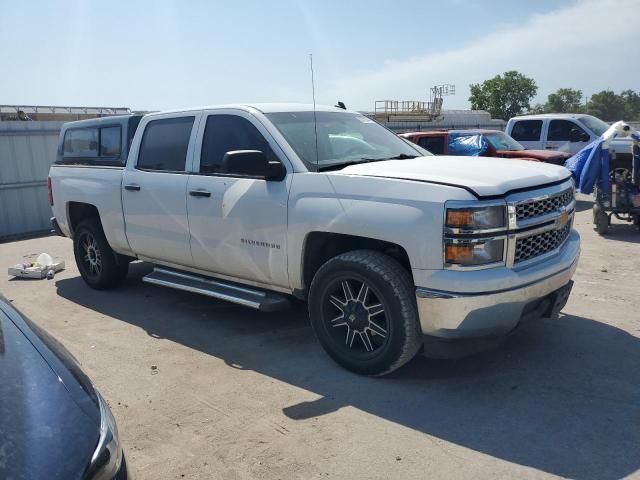
[[[640,233],[599,237],[590,208],[559,320],[382,379],[336,366],[302,310],[143,284],[141,263],[93,291],[64,238],[0,244],[2,268],[67,262],[53,281],[3,274],[0,291],[83,364],[138,479],[640,478]]]

